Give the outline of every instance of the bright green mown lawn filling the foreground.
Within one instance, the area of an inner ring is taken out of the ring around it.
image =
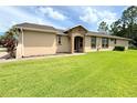
[[[137,51],[1,63],[0,96],[137,96]]]

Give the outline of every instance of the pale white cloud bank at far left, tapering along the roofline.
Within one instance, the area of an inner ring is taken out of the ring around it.
[[[30,22],[39,23],[45,25],[52,25],[59,29],[64,29],[63,27],[40,17],[39,14],[29,13],[24,10],[19,9],[18,7],[0,7],[0,32],[4,32],[10,29],[13,24]]]

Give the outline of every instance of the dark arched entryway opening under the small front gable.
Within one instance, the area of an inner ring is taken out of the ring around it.
[[[74,38],[74,52],[83,52],[83,38],[82,37]]]

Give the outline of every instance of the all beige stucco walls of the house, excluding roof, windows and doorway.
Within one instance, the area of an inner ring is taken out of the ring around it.
[[[85,31],[80,31],[78,29],[75,29],[75,31],[72,31],[70,35],[62,35],[61,39],[62,44],[60,45],[57,44],[57,37],[55,33],[23,30],[23,33],[19,34],[17,58],[55,54],[56,52],[72,52],[72,50],[74,51],[75,37],[83,37],[84,52],[97,51],[97,47],[101,48],[99,51],[113,50],[115,45],[122,45],[128,49],[128,41],[120,39],[117,39],[116,44],[114,44],[114,41],[110,41],[109,39],[108,49],[102,49],[102,38],[99,37],[96,38],[96,49],[92,49],[91,47],[92,35],[84,34]]]

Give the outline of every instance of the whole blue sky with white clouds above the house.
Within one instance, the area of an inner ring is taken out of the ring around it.
[[[54,7],[0,7],[0,32],[6,32],[13,24],[30,22],[67,29],[82,24],[96,31],[101,21],[108,24],[120,18],[124,6],[54,6]]]

